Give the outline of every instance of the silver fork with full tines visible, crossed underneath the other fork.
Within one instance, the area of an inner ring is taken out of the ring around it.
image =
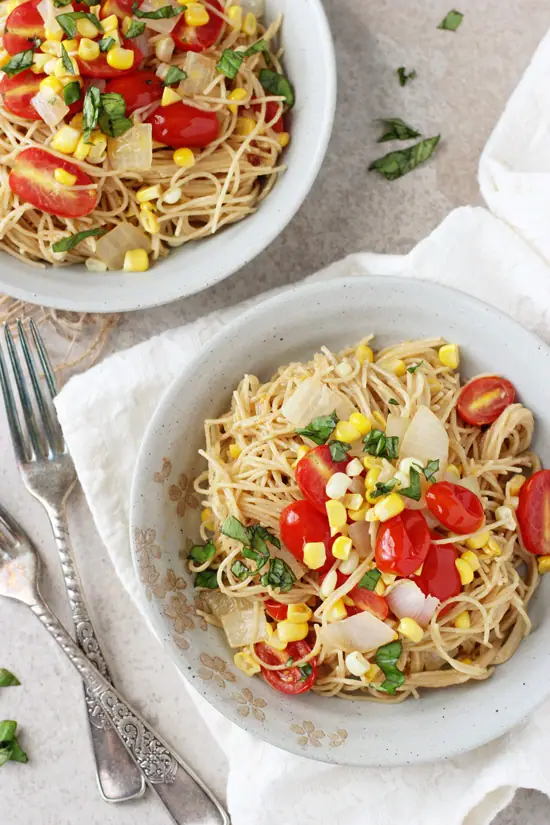
[[[48,393],[53,400],[57,395],[55,374],[34,321],[30,322],[30,328]],[[61,433],[55,408],[42,392],[35,358],[20,321],[17,321],[17,331],[42,425],[39,427],[36,420],[13,336],[7,324],[4,324],[7,351],[25,424],[23,427],[15,405],[14,392],[0,347],[0,385],[17,466],[25,487],[40,501],[50,518],[71,605],[76,640],[88,659],[106,679],[112,681],[86,606],[69,538],[65,504],[76,482],[74,463]],[[146,787],[141,772],[94,695],[86,689],[84,694],[101,795],[107,802],[125,802],[141,796]]]

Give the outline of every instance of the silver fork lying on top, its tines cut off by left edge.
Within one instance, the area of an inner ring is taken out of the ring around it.
[[[230,825],[227,813],[193,770],[149,727],[73,642],[40,595],[39,569],[36,548],[0,506],[0,596],[26,604],[49,630],[176,825]]]

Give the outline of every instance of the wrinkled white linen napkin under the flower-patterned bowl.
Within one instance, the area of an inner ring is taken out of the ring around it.
[[[482,208],[457,209],[408,255],[353,255],[313,279],[399,273],[444,283],[494,304],[550,343],[549,69],[547,36],[482,155],[480,184],[498,218]],[[97,529],[140,609],[128,510],[141,438],[172,379],[244,308],[117,353],[71,379],[57,399]],[[550,796],[550,702],[511,733],[454,760],[378,770],[325,765],[274,748],[185,686],[227,755],[234,825],[294,825],[298,818],[301,825],[489,825],[519,787]]]

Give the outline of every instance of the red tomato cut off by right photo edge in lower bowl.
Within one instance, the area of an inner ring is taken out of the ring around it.
[[[517,514],[525,549],[550,556],[550,470],[539,470],[525,482]]]

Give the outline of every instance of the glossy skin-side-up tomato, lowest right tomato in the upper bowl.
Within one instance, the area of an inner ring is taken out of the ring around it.
[[[218,137],[216,113],[195,109],[186,103],[159,106],[146,122],[153,125],[153,140],[174,149],[182,146],[202,148]]]

